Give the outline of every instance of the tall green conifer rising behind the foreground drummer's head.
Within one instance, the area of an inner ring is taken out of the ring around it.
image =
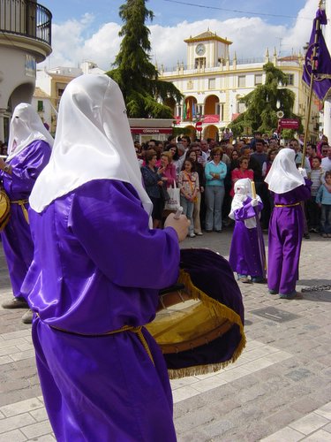
[[[120,6],[124,25],[119,36],[123,40],[115,68],[107,74],[122,90],[128,117],[173,118],[172,110],[163,103],[170,97],[179,103],[183,95],[172,83],[158,79],[157,69],[150,61],[150,31],[145,21],[152,20],[154,14],[147,9],[147,1],[126,0]]]

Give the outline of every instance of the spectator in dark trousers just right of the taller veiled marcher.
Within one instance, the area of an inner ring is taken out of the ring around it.
[[[307,216],[309,232],[318,233],[320,231],[320,207],[316,202],[316,195],[322,184],[321,179],[323,176],[323,170],[320,167],[320,157],[315,156],[312,158],[312,171],[310,174],[312,181],[311,197],[307,200]]]

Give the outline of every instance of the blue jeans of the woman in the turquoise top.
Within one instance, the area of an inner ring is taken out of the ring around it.
[[[206,230],[222,230],[224,186],[206,186]]]

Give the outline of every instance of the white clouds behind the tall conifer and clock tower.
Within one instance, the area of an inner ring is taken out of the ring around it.
[[[150,26],[152,44],[151,59],[160,66],[172,68],[177,61],[186,65],[186,43],[184,39],[197,35],[209,28],[217,35],[233,42],[229,47],[230,57],[235,51],[237,58],[264,57],[267,48],[270,55],[276,48],[281,55],[290,55],[293,51],[302,51],[309,40],[312,21],[303,19],[314,16],[316,1],[307,0],[299,11],[293,27],[270,25],[259,17],[227,19],[204,19],[189,23],[183,21],[175,27]],[[83,60],[97,63],[102,69],[109,70],[117,56],[121,39],[118,37],[120,25],[105,23],[93,31],[94,16],[84,15],[81,19],[72,19],[62,25],[53,26],[53,54],[44,65],[77,66]],[[280,43],[281,42],[281,43]]]

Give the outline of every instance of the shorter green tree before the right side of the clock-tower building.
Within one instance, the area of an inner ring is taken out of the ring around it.
[[[288,80],[285,73],[272,63],[264,65],[263,70],[266,72],[265,84],[257,86],[240,100],[246,110],[229,125],[235,136],[244,133],[247,128],[252,132],[271,133],[277,127],[278,110],[284,112],[285,118],[299,119],[301,126],[301,118],[293,113],[295,94],[286,88]]]

